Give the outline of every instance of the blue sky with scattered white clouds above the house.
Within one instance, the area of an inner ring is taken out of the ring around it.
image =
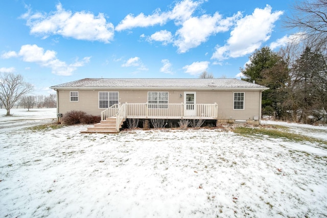
[[[255,49],[278,50],[290,0],[0,3],[0,72],[33,94],[83,78],[240,78]]]

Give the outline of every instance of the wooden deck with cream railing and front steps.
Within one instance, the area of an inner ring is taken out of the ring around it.
[[[128,119],[217,119],[217,104],[115,104],[101,112],[101,123],[81,133],[118,133]]]

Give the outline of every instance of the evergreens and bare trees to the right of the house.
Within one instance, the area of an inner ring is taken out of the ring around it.
[[[300,33],[279,51],[255,50],[241,68],[242,79],[269,87],[262,94],[263,115],[326,124],[327,1],[302,1],[293,8],[285,26]]]

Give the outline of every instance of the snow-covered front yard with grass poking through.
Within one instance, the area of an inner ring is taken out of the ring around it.
[[[33,110],[0,116],[0,217],[327,216],[326,144],[219,128],[35,131],[56,110]],[[327,140],[325,127],[278,125]]]

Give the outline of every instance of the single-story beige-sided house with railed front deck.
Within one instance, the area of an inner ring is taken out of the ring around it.
[[[95,79],[50,87],[57,112],[81,110],[115,118],[237,120],[260,124],[261,95],[268,89],[238,79]]]

